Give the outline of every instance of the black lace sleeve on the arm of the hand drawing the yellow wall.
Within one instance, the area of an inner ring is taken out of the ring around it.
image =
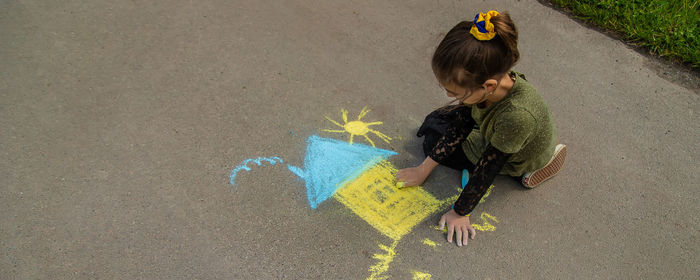
[[[462,110],[455,110],[451,112],[451,114],[453,114],[453,118],[447,122],[444,135],[438,140],[433,150],[428,154],[430,158],[437,162],[442,162],[452,155],[459,145],[467,138],[472,128],[474,128],[471,109],[468,107]]]

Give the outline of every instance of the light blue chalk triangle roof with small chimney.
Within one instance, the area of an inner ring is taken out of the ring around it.
[[[306,192],[311,208],[331,197],[346,181],[357,178],[396,152],[362,144],[312,135],[306,140],[304,170],[289,165],[292,173],[306,181]]]

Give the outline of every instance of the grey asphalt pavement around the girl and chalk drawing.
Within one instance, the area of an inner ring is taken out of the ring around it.
[[[475,212],[496,229],[466,247],[432,213],[380,276],[700,277],[697,89],[536,1],[0,1],[0,278],[370,276],[392,240],[334,199],[311,209],[285,165],[311,135],[347,141],[324,116],[364,106],[391,162],[419,163],[416,128],[447,101],[432,50],[488,9],[518,25],[515,70],[567,165],[535,190],[497,178]]]

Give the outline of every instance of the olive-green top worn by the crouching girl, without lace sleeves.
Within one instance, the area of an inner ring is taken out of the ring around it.
[[[544,167],[554,155],[556,128],[544,99],[525,80],[525,75],[511,72],[513,88],[498,103],[487,108],[472,107],[478,128],[462,143],[467,158],[476,163],[492,145],[513,154],[501,175],[521,176]]]

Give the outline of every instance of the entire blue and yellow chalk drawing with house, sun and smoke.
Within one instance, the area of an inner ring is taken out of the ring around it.
[[[391,138],[369,128],[382,124],[382,122],[362,121],[362,118],[369,112],[370,110],[364,107],[357,120],[348,122],[348,111],[341,109],[344,122],[342,125],[326,116],[326,119],[343,130],[324,129],[323,131],[347,132],[350,134],[350,141],[344,142],[312,135],[306,141],[303,169],[289,164],[287,168],[304,181],[307,199],[312,209],[316,209],[328,198],[334,197],[379,233],[392,240],[389,246],[378,245],[382,253],[372,256],[377,260],[377,263],[369,268],[370,276],[367,277],[367,279],[387,279],[389,275],[385,275],[385,273],[396,257],[396,246],[399,240],[426,217],[453,203],[459,194],[445,199],[437,199],[420,186],[400,188],[402,187],[400,182],[396,182],[398,170],[388,161],[389,157],[397,153],[376,148],[367,134],[372,133],[386,143],[389,143]],[[290,130],[290,134],[294,135],[294,132]],[[362,144],[353,145],[353,139],[356,135],[363,136],[371,144],[371,147]],[[239,171],[250,171],[248,164],[251,162],[257,165],[261,165],[263,162],[275,165],[283,161],[278,157],[245,160],[231,172],[230,182],[232,185],[235,185],[234,179]],[[463,172],[462,188],[468,179],[468,172]],[[489,196],[491,188],[493,185],[480,202]],[[462,189],[458,187],[457,191],[461,192]],[[488,221],[498,223],[496,217],[485,212],[481,213],[480,217],[483,223],[472,224],[475,229],[480,231],[496,229]],[[440,246],[427,238],[423,239],[423,244],[433,248]],[[431,277],[426,272],[415,270],[412,271],[412,274],[413,279],[430,279]]]

